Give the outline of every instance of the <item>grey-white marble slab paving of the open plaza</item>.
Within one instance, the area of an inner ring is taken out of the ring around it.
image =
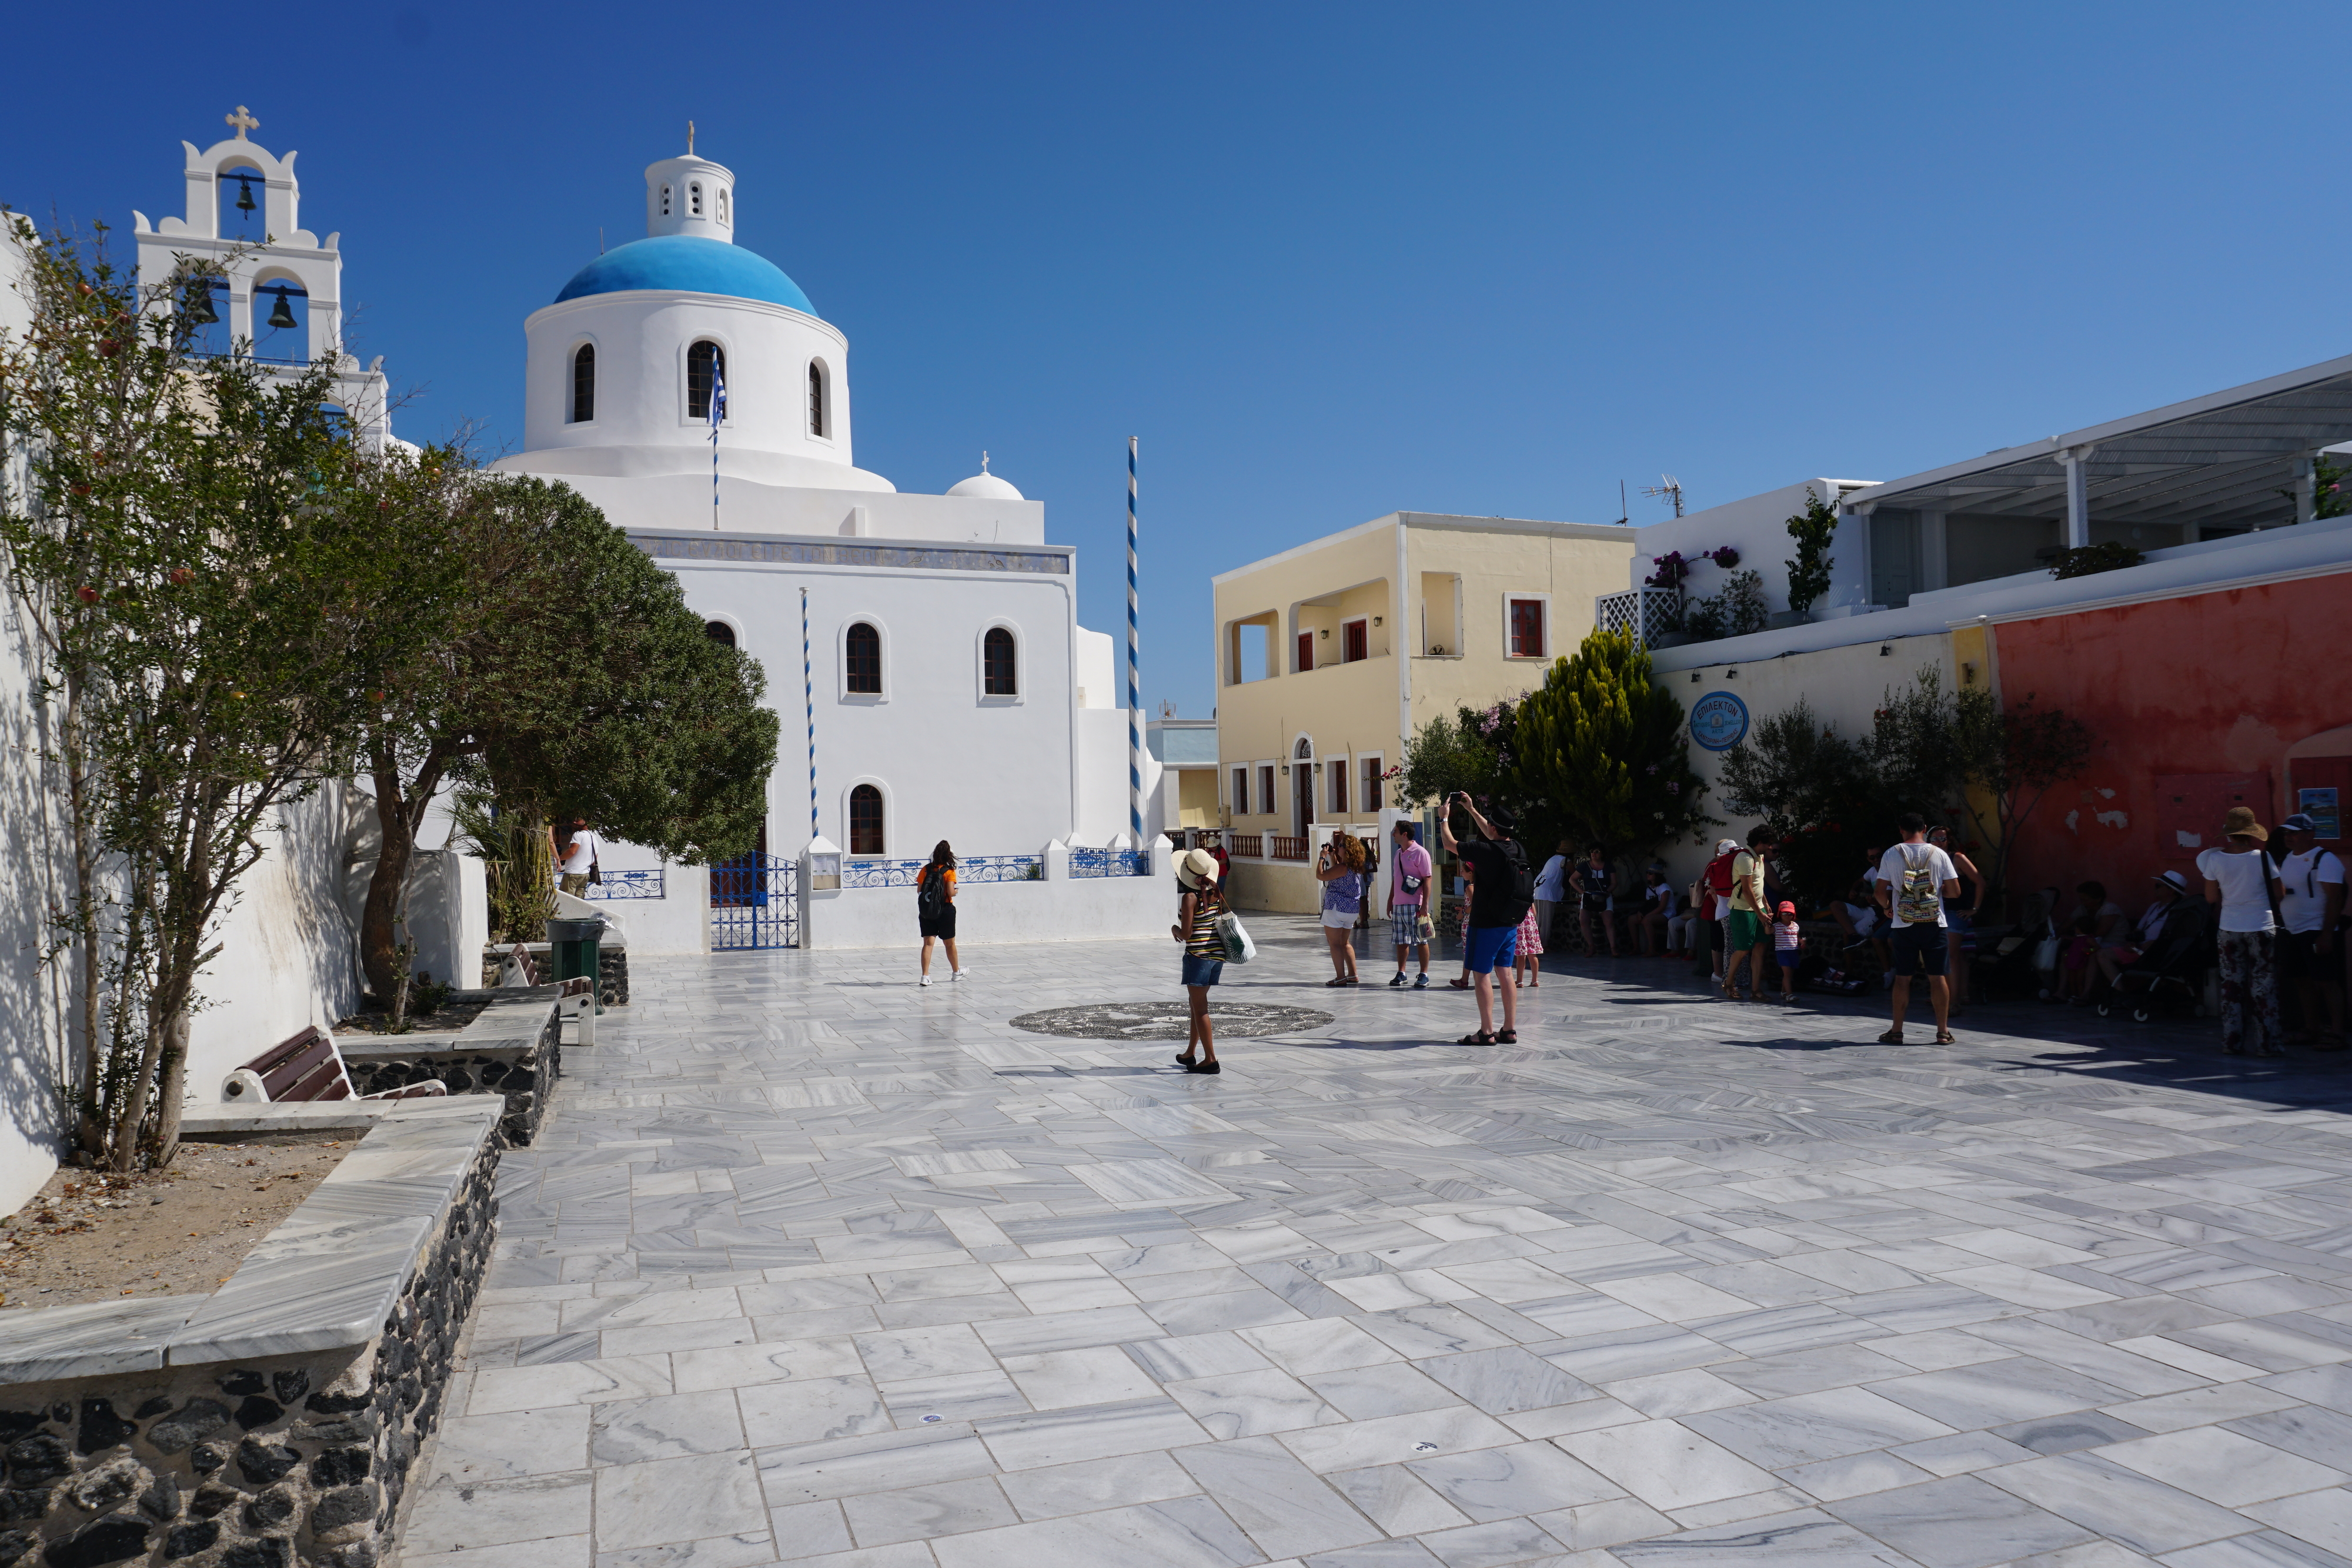
[[[2343,1058],[1559,959],[1482,1051],[1258,931],[1336,1023],[1223,1077],[1009,1025],[1171,943],[642,961],[405,1566],[2352,1559]]]

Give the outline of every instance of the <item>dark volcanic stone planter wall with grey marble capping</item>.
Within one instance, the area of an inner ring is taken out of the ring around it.
[[[212,1298],[0,1314],[0,1568],[383,1559],[496,1234],[487,1107],[419,1105]]]

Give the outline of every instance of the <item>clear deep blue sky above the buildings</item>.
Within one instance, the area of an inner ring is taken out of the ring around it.
[[[1397,508],[1611,522],[1896,477],[2345,353],[2317,5],[183,5],[9,14],[0,200],[179,209],[249,103],[409,435],[522,435],[522,317],[736,169],[858,463],[978,463],[1207,717],[1209,576]]]

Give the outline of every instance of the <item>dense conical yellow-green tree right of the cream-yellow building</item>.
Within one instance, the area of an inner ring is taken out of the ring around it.
[[[1517,708],[1505,783],[1519,813],[1545,839],[1595,842],[1611,858],[1712,825],[1682,719],[1649,649],[1630,632],[1585,635]]]

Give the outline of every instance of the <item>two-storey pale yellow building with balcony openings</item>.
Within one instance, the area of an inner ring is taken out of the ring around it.
[[[1543,684],[1630,559],[1625,527],[1390,512],[1218,576],[1218,816],[1235,903],[1319,907],[1317,827],[1381,832],[1404,738]]]

